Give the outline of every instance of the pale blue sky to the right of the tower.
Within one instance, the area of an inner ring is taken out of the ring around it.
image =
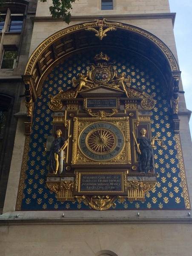
[[[171,12],[176,12],[175,41],[186,106],[192,110],[192,0],[169,0]],[[189,122],[192,135],[192,117]]]

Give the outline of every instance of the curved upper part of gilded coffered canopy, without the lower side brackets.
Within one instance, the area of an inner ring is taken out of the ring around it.
[[[114,28],[113,31],[107,32],[107,36],[103,40],[99,40],[95,36],[95,32],[89,31],[98,29],[101,27],[100,24],[103,24],[104,28]],[[125,40],[121,40],[122,37]],[[103,46],[128,49],[151,59],[162,73],[166,71],[167,80],[171,80],[171,72],[179,72],[178,63],[171,50],[152,33],[125,23],[98,19],[62,29],[44,40],[34,50],[23,76],[24,81],[30,80],[34,99],[39,94],[38,84],[43,74],[60,58],[82,49]]]

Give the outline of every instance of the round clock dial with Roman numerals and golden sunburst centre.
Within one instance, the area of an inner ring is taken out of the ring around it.
[[[95,122],[86,127],[79,137],[80,150],[95,161],[113,159],[123,150],[124,142],[123,133],[110,122]]]

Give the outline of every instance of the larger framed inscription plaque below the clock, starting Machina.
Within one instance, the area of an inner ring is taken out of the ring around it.
[[[78,172],[78,193],[122,194],[123,172]]]

